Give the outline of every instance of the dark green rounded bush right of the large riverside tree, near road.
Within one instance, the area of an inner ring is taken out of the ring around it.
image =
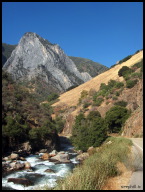
[[[113,106],[106,112],[105,122],[109,132],[119,133],[127,118],[129,111],[125,107]]]

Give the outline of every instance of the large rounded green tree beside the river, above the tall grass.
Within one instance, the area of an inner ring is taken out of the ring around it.
[[[107,137],[107,126],[98,111],[91,111],[76,117],[71,141],[77,149],[87,151],[90,146],[98,147]]]

